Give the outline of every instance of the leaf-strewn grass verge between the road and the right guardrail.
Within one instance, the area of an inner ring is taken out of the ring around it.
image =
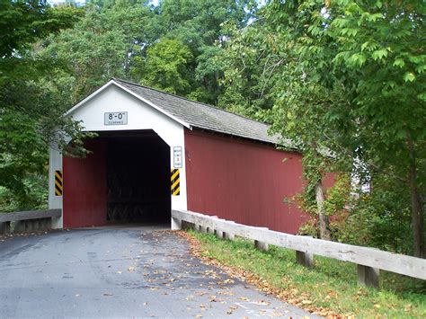
[[[225,267],[265,292],[317,315],[426,317],[426,282],[380,272],[380,289],[357,286],[356,265],[315,256],[314,268],[295,262],[295,252],[270,245],[260,252],[253,242],[219,240],[194,231],[192,249],[205,261]]]

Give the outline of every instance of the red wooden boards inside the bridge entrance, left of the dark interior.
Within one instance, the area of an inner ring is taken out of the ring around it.
[[[86,147],[93,153],[84,159],[64,157],[64,227],[106,224],[105,142],[96,139]]]

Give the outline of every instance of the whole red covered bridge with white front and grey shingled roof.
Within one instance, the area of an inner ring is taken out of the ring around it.
[[[266,124],[119,79],[67,114],[98,137],[84,159],[50,149],[58,228],[170,222],[171,209],[293,234],[306,220],[283,200],[302,191],[302,156]]]

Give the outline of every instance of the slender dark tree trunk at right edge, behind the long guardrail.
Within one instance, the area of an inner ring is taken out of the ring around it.
[[[422,201],[417,187],[417,168],[415,161],[414,145],[411,137],[407,138],[408,150],[410,152],[409,182],[412,201],[412,227],[413,227],[413,254],[414,257],[424,257],[423,238],[423,209]]]

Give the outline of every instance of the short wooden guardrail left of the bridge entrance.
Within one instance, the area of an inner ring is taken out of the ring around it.
[[[13,222],[13,232],[15,233],[48,230],[52,226],[52,217],[61,215],[62,209],[0,213],[0,234],[11,232],[11,222]]]

